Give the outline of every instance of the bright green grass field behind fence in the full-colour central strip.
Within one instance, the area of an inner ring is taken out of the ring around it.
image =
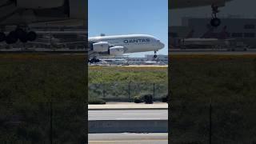
[[[90,66],[89,98],[134,98],[167,94],[167,67]]]

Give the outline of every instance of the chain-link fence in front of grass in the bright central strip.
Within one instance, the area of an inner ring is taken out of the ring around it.
[[[109,101],[131,102],[135,96],[151,94],[154,100],[166,97],[167,83],[100,83],[89,84],[89,98],[103,98]]]

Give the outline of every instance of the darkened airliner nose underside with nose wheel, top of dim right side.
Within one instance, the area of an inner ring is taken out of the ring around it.
[[[232,0],[172,0],[169,2],[169,9],[182,9],[189,7],[198,7],[198,6],[211,6],[212,9],[212,18],[210,20],[210,25],[217,27],[220,26],[221,20],[217,17],[219,13],[218,7],[226,5],[226,2]]]

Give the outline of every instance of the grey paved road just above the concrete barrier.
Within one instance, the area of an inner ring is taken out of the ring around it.
[[[89,110],[90,120],[168,119],[168,110]]]

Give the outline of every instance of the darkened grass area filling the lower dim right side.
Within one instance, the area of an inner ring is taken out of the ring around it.
[[[255,55],[173,55],[172,143],[250,143],[256,133]]]

